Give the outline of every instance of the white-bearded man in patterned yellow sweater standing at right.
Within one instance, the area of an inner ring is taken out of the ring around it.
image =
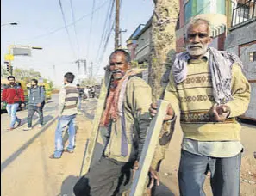
[[[240,195],[240,124],[250,85],[240,59],[231,52],[209,47],[209,21],[196,19],[188,25],[186,52],[178,54],[165,90],[172,107],[166,119],[180,113],[184,132],[178,182],[181,195],[203,196],[208,172],[215,196]],[[150,108],[155,115],[156,105]]]

